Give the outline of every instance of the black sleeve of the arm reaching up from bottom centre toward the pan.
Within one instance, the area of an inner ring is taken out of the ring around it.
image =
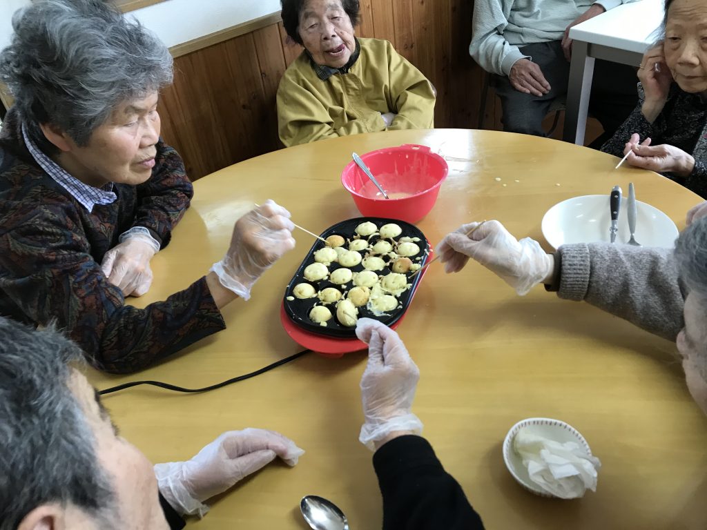
[[[383,530],[483,530],[481,517],[422,437],[397,437],[373,455]]]

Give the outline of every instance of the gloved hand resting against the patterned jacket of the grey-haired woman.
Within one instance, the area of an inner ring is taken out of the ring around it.
[[[124,296],[142,296],[152,285],[150,260],[160,250],[159,243],[147,232],[128,230],[121,242],[105,253],[100,269],[108,281]]]

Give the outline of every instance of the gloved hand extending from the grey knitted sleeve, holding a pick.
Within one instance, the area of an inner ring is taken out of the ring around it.
[[[554,257],[547,254],[537,241],[530,237],[516,240],[497,220],[484,223],[467,236],[478,224],[462,225],[438,245],[437,252],[445,264],[445,271],[461,271],[471,257],[503,278],[519,295],[527,294],[552,273]]]

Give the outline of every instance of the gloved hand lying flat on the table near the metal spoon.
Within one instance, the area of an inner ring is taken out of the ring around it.
[[[204,514],[206,499],[228,490],[241,478],[280,457],[297,464],[304,451],[287,437],[264,429],[224,432],[186,462],[156,464],[160,493],[182,515]]]

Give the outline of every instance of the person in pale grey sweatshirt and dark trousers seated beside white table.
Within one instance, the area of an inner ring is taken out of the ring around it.
[[[545,136],[542,120],[567,93],[573,25],[636,0],[476,0],[469,54],[495,74],[503,130]],[[601,146],[636,106],[630,66],[596,61],[590,112],[604,127]]]

